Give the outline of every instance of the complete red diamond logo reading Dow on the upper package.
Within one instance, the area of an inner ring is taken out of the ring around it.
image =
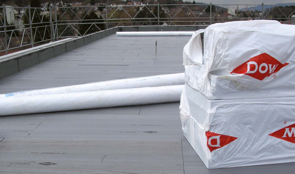
[[[282,67],[287,66],[289,63],[282,64],[272,56],[262,53],[252,57],[247,62],[236,67],[232,73],[249,75],[258,80],[263,80],[265,77],[279,71]]]

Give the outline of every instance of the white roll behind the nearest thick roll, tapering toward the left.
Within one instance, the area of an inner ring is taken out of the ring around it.
[[[20,91],[9,94],[0,94],[1,97],[16,97],[16,96],[31,96],[31,95],[50,95],[50,94],[64,94],[73,92],[86,91],[103,91],[114,89],[128,89],[138,87],[158,87],[167,85],[183,85],[184,73],[155,75],[148,77],[139,77],[131,79],[110,80],[104,82],[87,83],[81,85],[54,87],[48,89]]]

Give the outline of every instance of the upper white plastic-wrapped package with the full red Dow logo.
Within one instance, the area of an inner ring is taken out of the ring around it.
[[[295,26],[273,20],[210,25],[185,45],[183,64],[185,83],[209,99],[294,97]]]

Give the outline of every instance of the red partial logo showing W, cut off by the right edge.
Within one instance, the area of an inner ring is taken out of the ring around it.
[[[269,136],[273,136],[295,144],[295,124],[281,128],[280,130],[269,134]]]

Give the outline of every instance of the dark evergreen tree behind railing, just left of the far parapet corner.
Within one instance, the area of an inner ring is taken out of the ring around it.
[[[104,23],[98,23],[98,22],[104,22],[102,16],[98,17],[98,15],[94,11],[90,11],[88,14],[87,14],[87,11],[84,11],[83,16],[85,16],[84,17],[85,21],[84,20],[79,21],[79,23],[83,23],[83,24],[78,24],[78,27],[79,27],[78,31],[81,35],[90,34],[90,33],[94,33],[94,32],[106,29],[106,26]],[[90,20],[90,19],[93,19],[93,20]]]

